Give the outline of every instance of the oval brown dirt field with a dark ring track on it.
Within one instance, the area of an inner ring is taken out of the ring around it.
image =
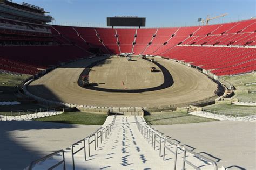
[[[100,59],[103,57],[57,68],[33,81],[28,90],[53,101],[102,107],[190,103],[213,97],[217,90],[216,83],[193,68],[166,59],[154,58],[156,63],[152,63],[138,57],[133,57],[133,61],[111,57],[99,62],[89,73],[93,85],[84,88],[80,76]],[[151,73],[152,66],[158,72]]]

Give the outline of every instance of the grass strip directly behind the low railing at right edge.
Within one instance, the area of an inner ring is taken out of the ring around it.
[[[256,107],[244,106],[244,105],[231,105],[231,104],[214,104],[204,107],[205,110],[215,111],[216,113],[234,113],[234,114],[245,114],[253,115],[256,113]]]

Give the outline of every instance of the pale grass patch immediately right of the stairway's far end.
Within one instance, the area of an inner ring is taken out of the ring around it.
[[[165,112],[144,116],[145,121],[150,125],[172,125],[216,121],[200,116],[186,114],[184,112]]]

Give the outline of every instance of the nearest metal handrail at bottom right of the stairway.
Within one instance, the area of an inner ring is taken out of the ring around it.
[[[200,168],[198,168],[196,165],[192,164],[192,162],[186,160],[186,152],[193,154],[194,156],[196,156],[196,157],[199,158],[199,159],[204,159],[204,160],[206,160],[207,162],[210,162],[210,163],[213,165],[213,169],[214,169],[214,170],[218,170],[218,166],[217,166],[216,162],[214,162],[213,160],[208,159],[208,158],[204,157],[203,155],[200,155],[200,154],[198,154],[198,153],[196,153],[196,152],[190,151],[190,150],[188,150],[187,148],[184,148],[184,151],[183,151],[183,165],[182,165],[182,170],[185,170],[185,163],[187,163],[188,165],[192,166],[194,169],[200,170]]]

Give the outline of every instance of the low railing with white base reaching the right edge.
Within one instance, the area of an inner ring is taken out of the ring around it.
[[[224,110],[211,110],[203,109],[201,114],[203,116],[213,116],[214,118],[234,119],[240,121],[255,121],[255,113],[237,112],[237,111],[224,111]]]

